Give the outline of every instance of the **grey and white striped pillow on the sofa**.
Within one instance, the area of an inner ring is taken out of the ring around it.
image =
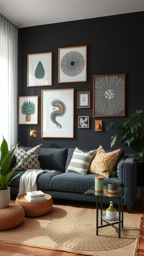
[[[66,172],[75,172],[86,175],[96,151],[97,150],[84,152],[76,147]]]

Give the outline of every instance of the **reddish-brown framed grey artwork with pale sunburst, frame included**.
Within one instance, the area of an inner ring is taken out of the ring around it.
[[[93,76],[93,117],[125,116],[125,74]]]

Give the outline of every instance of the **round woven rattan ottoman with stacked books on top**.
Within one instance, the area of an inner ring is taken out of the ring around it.
[[[26,217],[36,217],[48,213],[53,207],[52,197],[45,194],[47,200],[39,202],[28,202],[25,199],[26,194],[17,196],[15,203],[24,208]]]

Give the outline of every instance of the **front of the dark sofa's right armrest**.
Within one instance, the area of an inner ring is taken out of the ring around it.
[[[133,206],[137,193],[138,163],[132,154],[127,155],[123,165],[123,183],[128,191],[124,197],[124,205]]]

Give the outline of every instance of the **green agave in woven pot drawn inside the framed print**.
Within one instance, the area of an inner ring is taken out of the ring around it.
[[[31,115],[33,115],[35,113],[35,103],[33,103],[33,101],[24,101],[22,106],[21,106],[21,113],[23,115],[26,115],[26,122],[30,122],[31,121]]]

